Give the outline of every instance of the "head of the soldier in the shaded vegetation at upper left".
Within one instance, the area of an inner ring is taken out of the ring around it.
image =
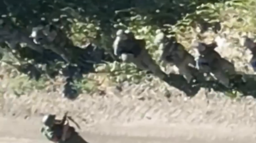
[[[33,38],[36,44],[48,44],[57,37],[57,30],[53,25],[38,25],[32,28],[32,33],[29,37]]]

